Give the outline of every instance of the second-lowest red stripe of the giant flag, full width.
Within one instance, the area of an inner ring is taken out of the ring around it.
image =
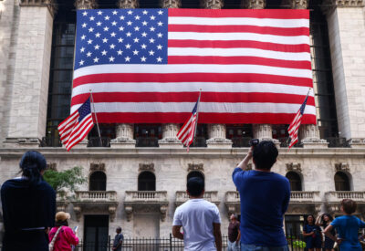
[[[196,93],[198,95],[198,93]],[[194,92],[96,92],[92,96],[95,103],[104,102],[194,102]],[[72,97],[71,106],[82,104],[89,93]],[[306,96],[269,93],[269,92],[203,92],[201,102],[222,102],[222,103],[288,103],[301,104]],[[308,105],[314,106],[313,97],[308,97]],[[299,109],[299,107],[298,107]]]

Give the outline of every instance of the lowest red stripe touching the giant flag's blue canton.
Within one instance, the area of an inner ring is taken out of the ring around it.
[[[169,64],[259,65],[277,68],[311,69],[310,61],[290,61],[259,57],[169,56]]]

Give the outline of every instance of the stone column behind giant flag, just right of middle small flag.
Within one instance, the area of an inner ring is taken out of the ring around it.
[[[202,0],[201,5],[205,9],[221,9],[224,6],[224,0]],[[231,148],[232,141],[225,138],[225,131],[225,124],[208,124],[207,147]]]

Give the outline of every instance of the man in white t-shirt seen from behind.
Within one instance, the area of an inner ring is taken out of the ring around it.
[[[172,235],[183,240],[185,251],[221,251],[221,216],[215,204],[203,199],[203,179],[190,178],[186,192],[190,200],[176,208]]]

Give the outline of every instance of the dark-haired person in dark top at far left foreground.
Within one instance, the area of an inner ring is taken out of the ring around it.
[[[26,152],[20,163],[22,176],[3,183],[1,200],[5,235],[3,251],[48,250],[48,227],[55,223],[56,192],[43,181],[45,157]]]

